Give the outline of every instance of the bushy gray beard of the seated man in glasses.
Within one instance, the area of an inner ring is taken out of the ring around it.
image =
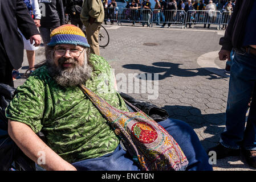
[[[91,65],[87,64],[86,60],[84,60],[82,66],[80,66],[78,62],[73,59],[69,59],[68,61],[74,63],[75,67],[63,68],[61,65],[64,62],[61,60],[59,61],[58,66],[54,63],[53,60],[46,60],[50,76],[54,78],[57,84],[64,87],[85,84],[86,81],[91,78]]]

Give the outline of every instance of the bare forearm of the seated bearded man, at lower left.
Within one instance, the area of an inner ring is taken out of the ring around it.
[[[35,163],[38,163],[38,155],[45,154],[45,164],[39,165],[46,170],[76,171],[74,166],[51,150],[25,123],[9,119],[8,133],[24,154]]]

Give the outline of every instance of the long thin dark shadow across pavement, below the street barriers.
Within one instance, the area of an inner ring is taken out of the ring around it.
[[[159,80],[164,80],[167,77],[179,76],[179,77],[194,77],[194,76],[210,76],[209,80],[226,78],[224,76],[216,75],[215,73],[209,72],[204,68],[196,69],[182,69],[180,68],[180,63],[170,63],[170,62],[156,62],[150,65],[144,64],[125,64],[123,68],[127,69],[137,69],[144,73],[158,74]],[[217,68],[216,68],[217,69]],[[222,71],[222,69],[219,69]],[[140,77],[139,77],[140,78]],[[143,79],[143,78],[140,78]]]

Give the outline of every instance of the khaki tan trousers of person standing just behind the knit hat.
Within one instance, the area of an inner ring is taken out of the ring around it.
[[[90,44],[90,51],[95,55],[100,55],[99,48],[99,31],[101,23],[87,23],[86,26],[86,36],[87,41]]]

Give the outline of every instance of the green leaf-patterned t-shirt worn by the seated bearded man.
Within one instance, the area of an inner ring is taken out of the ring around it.
[[[107,61],[96,55],[91,55],[90,61],[94,71],[87,88],[110,105],[128,111],[115,91]],[[46,65],[17,88],[6,117],[26,123],[35,133],[42,131],[48,146],[70,163],[109,154],[119,144],[119,138],[82,90],[56,84]]]

